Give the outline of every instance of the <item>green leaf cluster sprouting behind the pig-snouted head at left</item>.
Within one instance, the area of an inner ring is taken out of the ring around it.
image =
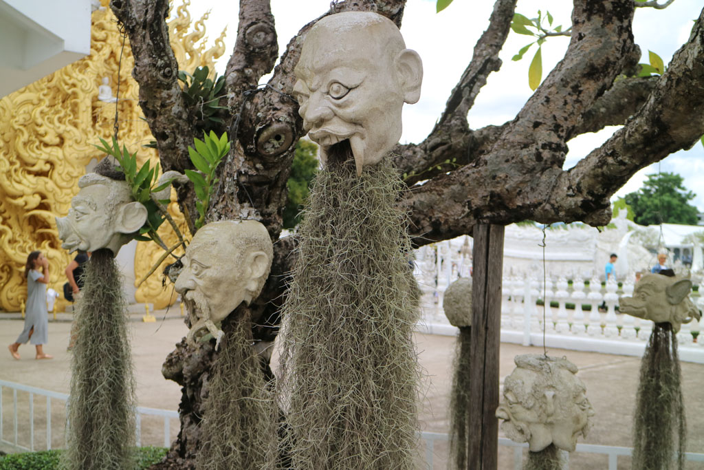
[[[105,152],[108,155],[113,156],[115,161],[118,162],[122,173],[125,173],[125,181],[127,185],[130,186],[130,191],[132,192],[132,199],[143,204],[146,207],[147,216],[146,222],[139,229],[139,234],[132,235],[135,240],[140,240],[143,242],[148,242],[149,240],[155,240],[156,230],[164,221],[164,216],[161,210],[156,205],[151,198],[151,193],[159,192],[167,188],[171,182],[167,181],[158,184],[159,179],[159,163],[157,162],[155,166],[151,167],[151,163],[147,160],[144,165],[137,168],[137,152],[130,154],[125,145],[122,145],[120,149],[120,144],[118,140],[113,137],[112,143],[108,143],[104,139],[100,139],[102,147],[96,145],[96,147]],[[159,201],[160,204],[168,204],[169,199],[163,199]],[[156,240],[155,240],[156,241]]]

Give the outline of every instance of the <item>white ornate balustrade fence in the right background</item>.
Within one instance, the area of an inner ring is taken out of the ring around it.
[[[423,292],[420,331],[440,335],[457,333],[444,315],[442,302],[450,283],[458,276],[470,276],[469,256],[461,251],[446,242],[417,250],[415,276]],[[544,338],[548,347],[631,356],[643,354],[653,323],[617,310],[618,298],[632,294],[633,282],[602,285],[597,278],[568,281],[566,276],[552,278],[548,272],[543,288],[543,270],[539,264],[529,273],[513,273],[510,267],[505,267],[504,272],[508,274],[503,278],[502,288],[502,342],[543,345],[544,317]],[[691,299],[700,310],[704,309],[704,296],[694,292]],[[553,307],[543,311],[546,303]],[[604,311],[598,308],[602,304],[606,306]],[[696,321],[682,325],[677,335],[681,360],[704,364],[704,337],[699,340],[699,333],[700,323]]]

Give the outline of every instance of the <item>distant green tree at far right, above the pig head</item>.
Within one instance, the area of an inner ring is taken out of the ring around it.
[[[677,173],[648,175],[643,187],[626,194],[625,202],[633,209],[634,222],[641,225],[684,223],[696,225],[698,209],[689,204],[696,194],[687,190]]]

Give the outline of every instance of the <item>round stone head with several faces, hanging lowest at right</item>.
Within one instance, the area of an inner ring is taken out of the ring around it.
[[[503,402],[496,417],[501,430],[532,452],[548,445],[572,452],[579,435],[586,436],[594,411],[577,366],[565,358],[539,354],[515,357],[516,369],[503,382]]]

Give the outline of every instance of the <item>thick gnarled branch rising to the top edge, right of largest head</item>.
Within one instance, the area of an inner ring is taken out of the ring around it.
[[[565,57],[493,147],[463,168],[414,188],[401,203],[412,214],[419,245],[471,233],[477,221],[536,218],[562,172],[567,137],[634,48],[633,11],[630,0],[574,2]]]

